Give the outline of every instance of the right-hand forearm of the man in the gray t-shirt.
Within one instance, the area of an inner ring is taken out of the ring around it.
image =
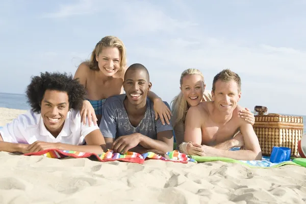
[[[159,140],[153,140],[145,135],[140,135],[140,143],[142,147],[146,149],[156,149],[162,152],[168,152],[173,150],[173,144],[168,145],[165,142]]]

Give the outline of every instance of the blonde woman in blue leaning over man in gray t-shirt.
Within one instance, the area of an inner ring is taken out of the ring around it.
[[[82,121],[100,123],[102,108],[107,98],[123,93],[123,77],[126,71],[126,51],[123,42],[115,36],[102,38],[92,51],[90,61],[80,64],[74,78],[79,78],[86,88],[86,100],[81,110]],[[154,102],[156,120],[169,124],[170,109],[153,92],[148,97]]]

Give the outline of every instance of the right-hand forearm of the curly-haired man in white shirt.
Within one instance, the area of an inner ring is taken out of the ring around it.
[[[101,154],[103,152],[107,152],[106,145],[69,145],[64,143],[58,143],[58,149],[60,150],[71,150],[71,151],[79,151],[79,152],[90,152]]]

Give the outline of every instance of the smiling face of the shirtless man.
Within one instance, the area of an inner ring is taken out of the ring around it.
[[[241,92],[234,80],[224,82],[217,80],[215,84],[215,92],[212,92],[212,97],[218,110],[224,115],[232,114],[240,100]]]

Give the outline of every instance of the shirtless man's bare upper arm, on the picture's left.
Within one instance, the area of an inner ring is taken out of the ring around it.
[[[199,106],[191,106],[187,112],[185,119],[184,142],[193,142],[201,145],[202,143],[202,121],[201,111]]]

